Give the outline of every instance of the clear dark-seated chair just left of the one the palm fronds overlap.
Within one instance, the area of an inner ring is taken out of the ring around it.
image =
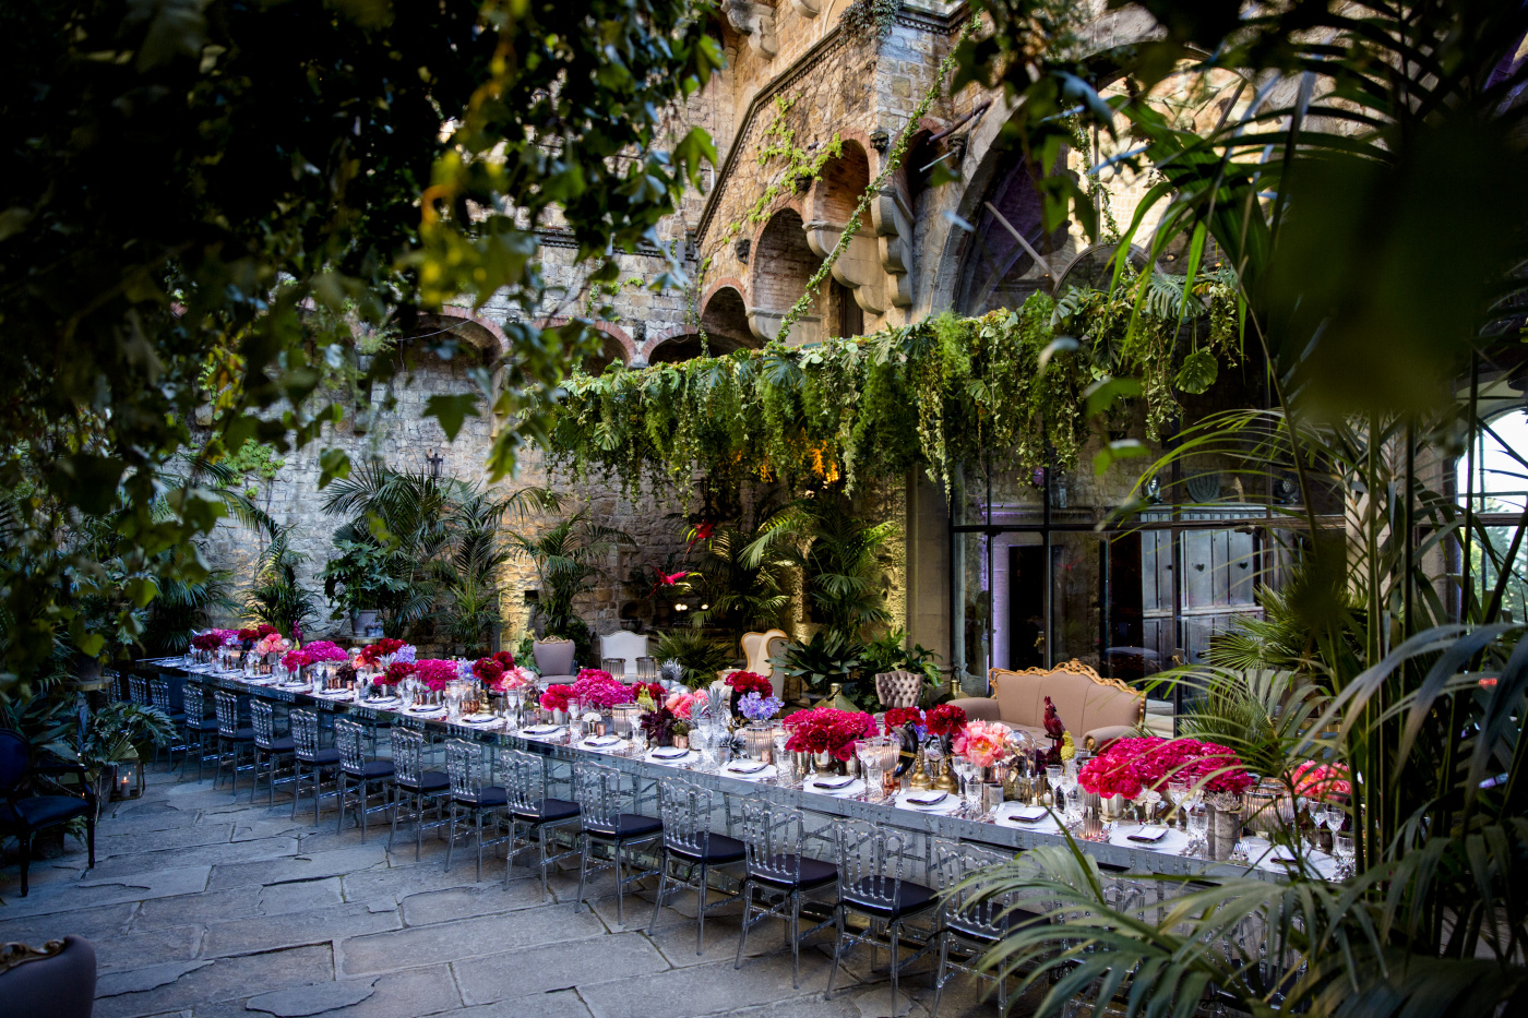
[[[876,968],[876,951],[885,946],[891,952],[891,1000],[897,1004],[897,977],[903,968],[921,957],[934,940],[924,943],[911,957],[902,958],[903,925],[909,916],[921,916],[935,906],[934,888],[909,879],[920,861],[908,854],[914,832],[894,827],[879,827],[865,821],[845,819],[839,824],[839,903],[833,909],[837,925],[837,942],[833,945],[833,969],[828,972],[828,989],[824,1000],[833,998],[833,983],[839,975],[845,945],[869,945],[871,968]],[[857,913],[868,920],[862,934],[847,929],[848,913]]]

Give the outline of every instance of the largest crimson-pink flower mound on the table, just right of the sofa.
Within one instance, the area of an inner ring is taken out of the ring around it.
[[[1105,798],[1134,799],[1146,789],[1166,792],[1174,781],[1241,793],[1251,787],[1251,773],[1227,746],[1160,737],[1117,740],[1077,772],[1077,784]]]

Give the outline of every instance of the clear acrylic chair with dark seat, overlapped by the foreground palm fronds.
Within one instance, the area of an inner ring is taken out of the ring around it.
[[[966,880],[981,873],[996,873],[1013,861],[1012,853],[993,848],[978,848],[938,838],[934,841],[934,877],[940,891],[940,963],[934,974],[934,1007],[931,1018],[940,1013],[940,1000],[952,971],[993,980],[998,984],[998,1009],[1007,1013],[1008,981],[1005,975],[989,975],[975,965],[1008,932],[1027,923],[1044,923],[1050,905],[1034,891],[984,893],[979,880]],[[957,952],[952,957],[952,952]]]

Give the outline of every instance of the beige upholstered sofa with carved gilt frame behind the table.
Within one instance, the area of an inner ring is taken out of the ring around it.
[[[1045,738],[1045,697],[1056,705],[1073,741],[1099,749],[1122,738],[1146,717],[1146,694],[1118,679],[1105,679],[1079,660],[1053,668],[992,669],[992,695],[950,700],[966,717],[1002,721],[1008,728]]]

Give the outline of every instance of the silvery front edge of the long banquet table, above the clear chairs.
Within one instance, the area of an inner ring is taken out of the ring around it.
[[[1039,845],[1065,845],[1060,833],[1044,833],[1025,828],[1016,822],[996,822],[992,815],[986,818],[966,818],[958,815],[926,813],[915,809],[903,809],[891,801],[860,801],[856,798],[839,798],[802,787],[798,780],[793,786],[769,784],[766,781],[750,781],[730,776],[726,772],[707,772],[666,764],[648,758],[623,755],[620,752],[599,752],[582,746],[570,746],[565,734],[561,738],[547,741],[518,731],[504,731],[504,726],[480,726],[452,721],[448,718],[417,717],[400,709],[368,706],[329,695],[315,695],[293,689],[283,689],[274,685],[261,685],[248,680],[238,673],[215,671],[209,665],[189,663],[185,659],[150,659],[138,662],[139,671],[159,671],[174,676],[182,682],[197,682],[209,688],[228,689],[238,695],[261,697],[287,705],[310,706],[322,714],[345,715],[373,726],[403,725],[423,731],[434,741],[446,738],[461,738],[483,743],[494,749],[521,749],[545,757],[547,781],[553,786],[567,786],[571,781],[573,764],[581,760],[596,760],[597,763],[616,767],[633,776],[634,792],[639,806],[651,802],[656,796],[657,783],[665,776],[685,773],[691,780],[726,793],[729,804],[729,822],[732,819],[732,796],[767,798],[776,802],[799,807],[808,818],[814,818],[813,833],[821,841],[828,842],[833,835],[836,818],[854,818],[895,827],[920,835],[923,844],[921,858],[932,859],[932,842],[935,838],[979,844],[1008,851],[1022,851]],[[648,807],[652,812],[652,807]],[[1264,858],[1258,865],[1242,865],[1218,862],[1201,856],[1183,856],[1177,850],[1160,851],[1151,845],[1118,844],[1126,828],[1117,828],[1111,841],[1082,841],[1080,848],[1097,859],[1100,867],[1115,873],[1163,873],[1195,876],[1204,880],[1227,877],[1259,877],[1277,880],[1284,870],[1270,858]],[[827,854],[827,850],[824,851]],[[1311,862],[1323,876],[1329,876],[1334,862],[1328,856],[1316,854]]]

